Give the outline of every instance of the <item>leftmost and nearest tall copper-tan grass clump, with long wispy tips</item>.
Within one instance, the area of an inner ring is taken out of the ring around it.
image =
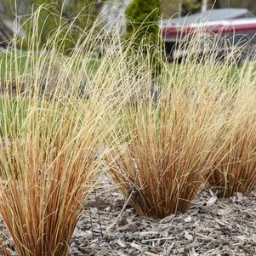
[[[32,19],[37,22],[37,13]],[[120,56],[118,38],[95,68],[92,45],[102,37],[88,32],[64,55],[63,34],[60,27],[39,48],[35,30],[22,71],[21,50],[5,56],[17,68],[6,71],[2,83],[0,213],[19,256],[67,254],[84,202],[103,173],[103,156],[96,155],[115,125],[105,126],[105,112],[117,108],[118,87],[126,95],[131,88],[132,65]]]

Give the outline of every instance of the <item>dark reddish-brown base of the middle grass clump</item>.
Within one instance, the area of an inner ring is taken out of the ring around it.
[[[111,169],[111,172],[115,171]],[[155,182],[144,178],[143,184],[139,180],[134,180],[134,185],[131,184],[131,180],[127,183],[124,182],[121,185],[121,191],[136,213],[154,219],[163,219],[172,213],[185,213],[191,207],[191,203],[204,182],[203,177],[198,177],[200,179],[198,184],[195,181],[191,185],[190,178],[186,181],[177,180],[177,184],[175,184],[169,179],[170,174],[163,175],[162,181],[153,176],[151,178],[155,179]],[[184,177],[180,177],[180,179],[184,179]],[[181,185],[182,182],[185,184]],[[168,188],[169,183],[174,186],[171,191]],[[181,191],[179,191],[179,185],[183,186]]]

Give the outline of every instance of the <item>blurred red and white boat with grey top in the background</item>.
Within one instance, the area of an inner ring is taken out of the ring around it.
[[[161,29],[168,60],[182,57],[185,53],[178,53],[179,43],[197,31],[217,35],[220,39],[223,37],[230,46],[244,47],[247,53],[256,45],[256,17],[247,9],[212,9],[162,20]],[[222,47],[220,43],[219,50]]]

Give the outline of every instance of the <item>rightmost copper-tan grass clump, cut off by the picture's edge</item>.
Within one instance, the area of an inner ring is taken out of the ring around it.
[[[250,75],[247,72],[246,75]],[[246,77],[244,82],[248,82]],[[254,84],[247,83],[234,95],[230,117],[216,146],[219,152],[210,184],[219,196],[230,197],[236,192],[247,196],[256,187],[256,122]]]

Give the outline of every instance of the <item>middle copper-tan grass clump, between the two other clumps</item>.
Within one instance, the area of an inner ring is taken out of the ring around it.
[[[207,181],[231,101],[224,88],[229,69],[211,60],[184,63],[162,79],[157,100],[140,94],[137,105],[122,108],[117,145],[107,158],[137,213],[156,219],[185,213]]]

